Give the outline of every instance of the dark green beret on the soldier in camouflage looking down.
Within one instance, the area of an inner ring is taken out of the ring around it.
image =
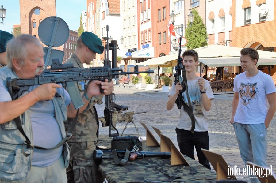
[[[81,35],[82,42],[92,51],[102,54],[105,50],[105,47],[102,46],[102,40],[97,37],[97,35],[93,34],[92,32],[82,32]]]

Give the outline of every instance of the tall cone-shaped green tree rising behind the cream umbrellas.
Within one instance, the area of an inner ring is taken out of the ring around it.
[[[198,15],[198,12],[195,9],[192,10],[192,13],[194,14],[192,27],[187,27],[185,30],[187,49],[195,49],[208,45],[208,35],[205,24],[203,24],[202,18]],[[188,25],[190,25],[190,22]]]

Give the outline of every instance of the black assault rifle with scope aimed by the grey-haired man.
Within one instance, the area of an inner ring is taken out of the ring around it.
[[[40,75],[36,75],[33,79],[11,79],[10,77],[8,77],[7,88],[12,97],[12,100],[15,100],[20,95],[22,95],[23,92],[27,91],[30,86],[45,83],[62,84],[63,87],[67,87],[67,91],[71,97],[74,107],[75,109],[78,109],[81,106],[83,106],[84,103],[82,101],[82,97],[79,94],[79,86],[78,82],[76,81],[104,81],[106,78],[109,79],[109,81],[111,81],[113,76],[138,73],[153,73],[153,71],[138,71],[137,65],[134,67],[134,72],[123,72],[122,69],[111,69],[109,66],[93,68],[76,68],[73,66],[73,64],[61,64],[59,62],[59,59],[53,59],[51,69],[44,69],[44,71]],[[101,90],[101,92],[103,91]],[[112,109],[114,107],[117,107],[119,110],[123,109],[123,106],[115,104],[115,102],[112,99],[108,100],[108,102],[109,105],[112,106]],[[109,124],[112,124],[112,117],[109,118]]]

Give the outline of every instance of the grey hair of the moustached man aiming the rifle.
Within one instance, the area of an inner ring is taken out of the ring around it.
[[[28,56],[26,46],[28,44],[33,44],[36,46],[43,47],[40,43],[39,39],[29,34],[21,34],[17,37],[11,39],[6,45],[6,60],[7,67],[13,68],[12,60],[13,58],[17,58],[19,60],[19,64],[25,65],[25,58]]]

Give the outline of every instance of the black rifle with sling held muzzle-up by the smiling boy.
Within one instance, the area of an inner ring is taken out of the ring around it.
[[[175,66],[176,73],[174,74],[174,77],[175,77],[174,84],[176,85],[178,82],[180,82],[180,84],[182,86],[182,90],[179,90],[179,94],[177,96],[175,103],[176,103],[178,109],[181,109],[181,105],[183,105],[185,111],[191,118],[191,121],[192,121],[191,133],[194,135],[195,120],[194,120],[193,107],[192,107],[192,103],[191,103],[189,91],[188,91],[186,69],[185,69],[185,67],[183,67],[183,64],[182,64],[183,58],[181,58],[180,54],[181,54],[181,37],[179,38],[179,51],[178,51],[177,66]],[[182,77],[181,77],[181,74],[182,74]],[[185,91],[186,91],[189,106],[182,99],[182,93]]]

